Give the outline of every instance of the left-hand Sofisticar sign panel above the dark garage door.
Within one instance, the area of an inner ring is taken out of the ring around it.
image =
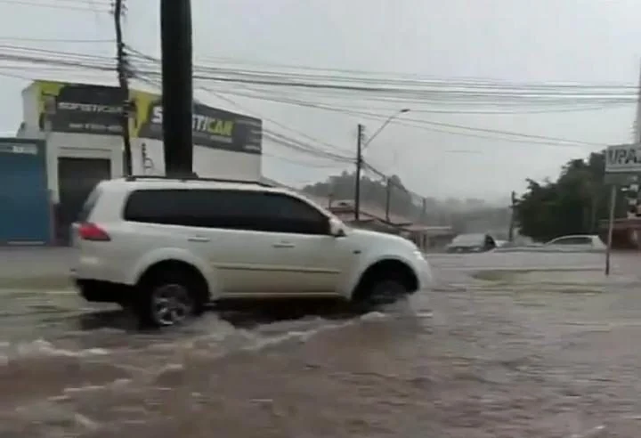
[[[42,130],[76,134],[122,134],[120,89],[110,86],[37,83]],[[48,123],[47,123],[48,122]]]

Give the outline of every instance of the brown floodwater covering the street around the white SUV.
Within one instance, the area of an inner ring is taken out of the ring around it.
[[[610,279],[596,254],[431,255],[434,290],[376,312],[207,312],[142,333],[66,290],[63,252],[33,253],[4,253],[20,261],[0,268],[3,438],[636,438],[641,427],[638,255],[615,256]],[[52,286],[18,280],[20,266]]]

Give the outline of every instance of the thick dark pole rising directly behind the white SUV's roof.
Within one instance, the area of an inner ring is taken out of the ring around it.
[[[191,0],[160,0],[162,100],[167,176],[192,176]]]

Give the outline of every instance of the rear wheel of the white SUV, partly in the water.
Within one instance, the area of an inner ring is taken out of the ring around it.
[[[197,282],[182,270],[154,272],[139,289],[134,312],[142,327],[179,325],[204,310]]]

